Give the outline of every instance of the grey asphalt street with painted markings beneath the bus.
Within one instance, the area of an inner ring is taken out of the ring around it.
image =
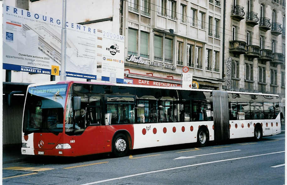
[[[284,184],[285,134],[3,164],[3,184]]]

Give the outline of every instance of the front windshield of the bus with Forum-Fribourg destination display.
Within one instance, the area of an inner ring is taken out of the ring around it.
[[[63,131],[63,112],[67,84],[29,87],[23,120],[25,135],[32,132],[50,132],[58,135]]]

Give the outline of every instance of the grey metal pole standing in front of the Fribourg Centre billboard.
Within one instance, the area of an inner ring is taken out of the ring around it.
[[[66,80],[66,0],[63,0],[63,11],[62,11],[62,37],[61,37],[61,74],[60,80]]]

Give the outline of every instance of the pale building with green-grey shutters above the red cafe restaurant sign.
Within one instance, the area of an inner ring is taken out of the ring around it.
[[[126,76],[180,83],[187,66],[199,88],[221,89],[221,19],[218,0],[124,1]]]

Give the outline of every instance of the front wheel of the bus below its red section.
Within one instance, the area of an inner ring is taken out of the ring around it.
[[[113,141],[113,154],[115,157],[124,157],[128,152],[128,140],[124,134],[117,134]]]

